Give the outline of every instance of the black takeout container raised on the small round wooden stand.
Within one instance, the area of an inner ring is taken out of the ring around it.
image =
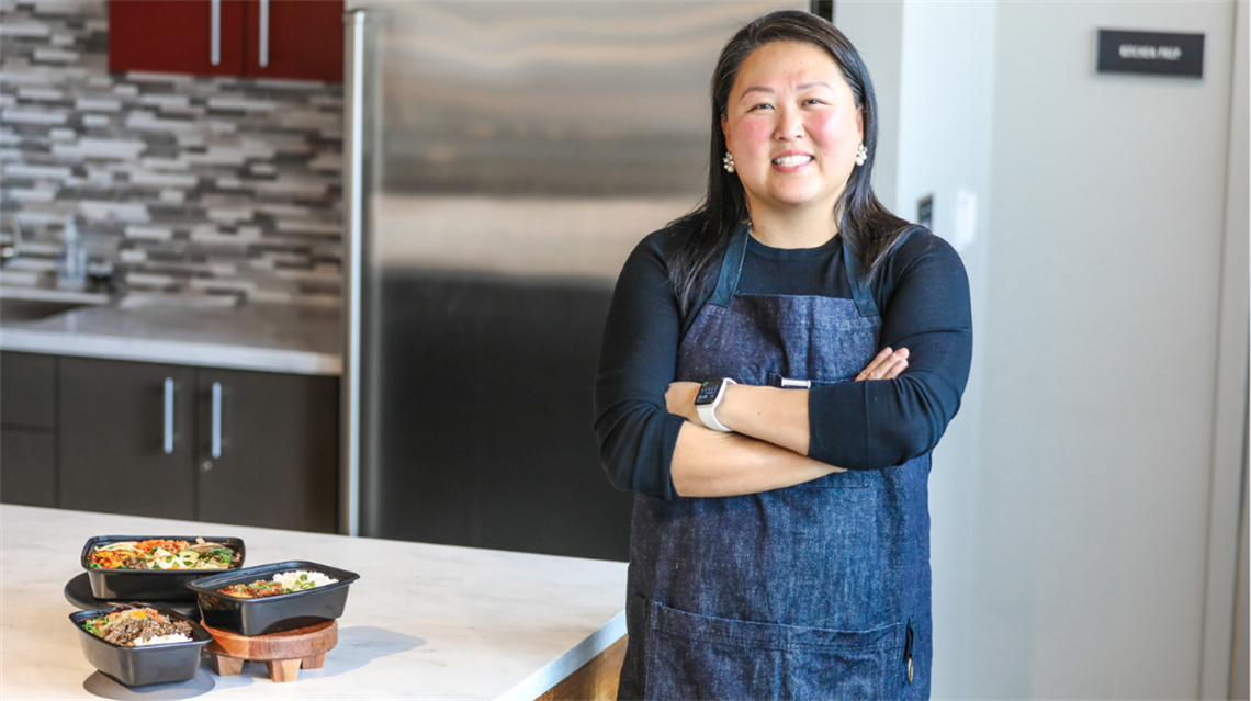
[[[322,572],[339,581],[333,585],[263,599],[239,599],[218,594],[219,589],[230,585],[271,580],[274,575],[294,570]],[[186,586],[199,595],[200,617],[204,619],[205,626],[254,636],[301,629],[338,619],[348,604],[348,586],[359,579],[360,575],[338,567],[291,560],[214,575],[189,582]]]

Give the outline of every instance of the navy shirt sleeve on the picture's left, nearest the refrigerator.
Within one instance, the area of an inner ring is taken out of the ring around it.
[[[595,372],[599,461],[619,490],[673,499],[669,466],[686,419],[668,412],[664,392],[677,371],[679,320],[656,232],[617,279]]]

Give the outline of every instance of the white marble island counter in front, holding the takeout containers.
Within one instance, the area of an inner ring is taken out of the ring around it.
[[[179,685],[95,671],[63,596],[94,535],[239,536],[246,566],[311,560],[360,574],[320,670],[274,684],[201,662]],[[0,505],[0,697],[535,699],[626,635],[626,564]]]

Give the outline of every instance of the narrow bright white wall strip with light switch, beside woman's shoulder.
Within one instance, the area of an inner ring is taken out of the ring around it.
[[[902,32],[898,211],[914,219],[918,200],[933,196],[932,229],[956,246],[968,272],[975,357],[983,352],[986,327],[995,16],[993,2],[908,2]],[[972,197],[971,230],[960,230],[961,197]],[[936,697],[965,697],[976,689],[970,664],[982,367],[972,367],[960,414],[934,450],[929,480]]]

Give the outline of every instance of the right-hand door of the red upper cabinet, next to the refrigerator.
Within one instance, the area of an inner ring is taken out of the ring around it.
[[[343,81],[343,0],[245,0],[244,75]]]

